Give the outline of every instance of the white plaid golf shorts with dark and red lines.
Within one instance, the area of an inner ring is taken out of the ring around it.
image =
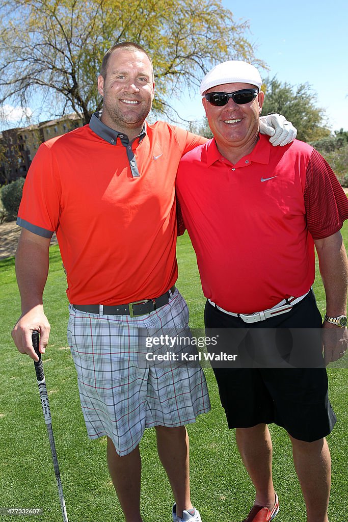
[[[178,290],[168,304],[138,317],[80,312],[72,305],[69,313],[68,342],[89,438],[109,436],[123,456],[145,428],[175,428],[210,410],[199,365],[153,364],[143,349],[149,331],[187,333],[187,304]]]

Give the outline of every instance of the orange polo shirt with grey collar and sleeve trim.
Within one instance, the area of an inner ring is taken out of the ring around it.
[[[129,143],[93,115],[40,146],[17,223],[46,238],[56,232],[70,303],[123,304],[173,286],[176,171],[205,141],[157,122]]]

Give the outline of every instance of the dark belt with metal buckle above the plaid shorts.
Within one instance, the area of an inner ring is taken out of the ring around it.
[[[130,315],[130,317],[137,317],[138,315],[145,315],[157,310],[161,306],[168,304],[169,299],[175,291],[175,284],[170,290],[160,295],[155,299],[141,299],[128,304],[116,304],[113,306],[101,305],[101,315]],[[73,304],[73,307],[80,312],[87,312],[89,314],[99,314],[99,304]]]

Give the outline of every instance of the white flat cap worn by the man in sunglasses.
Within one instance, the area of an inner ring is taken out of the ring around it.
[[[202,79],[199,93],[204,96],[211,87],[222,84],[251,84],[260,89],[262,80],[254,65],[240,60],[229,60],[213,67]]]

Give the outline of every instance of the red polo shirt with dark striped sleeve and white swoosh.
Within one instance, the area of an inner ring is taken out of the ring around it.
[[[313,238],[334,234],[348,217],[344,191],[316,150],[297,140],[272,147],[261,135],[235,165],[213,139],[188,152],[177,198],[205,296],[235,313],[307,292],[315,277]]]

